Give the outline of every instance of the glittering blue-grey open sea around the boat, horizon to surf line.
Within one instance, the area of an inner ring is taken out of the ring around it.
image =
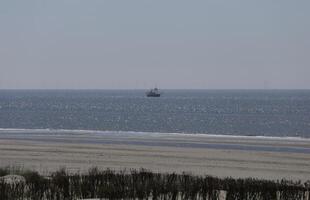
[[[0,128],[310,138],[310,90],[0,90]]]

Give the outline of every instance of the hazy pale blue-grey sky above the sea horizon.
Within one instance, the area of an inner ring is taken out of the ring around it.
[[[0,89],[310,89],[309,0],[1,0]]]

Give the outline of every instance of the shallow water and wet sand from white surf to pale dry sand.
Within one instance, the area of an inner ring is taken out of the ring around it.
[[[91,130],[0,129],[0,140],[115,144],[310,154],[309,138],[225,136]]]

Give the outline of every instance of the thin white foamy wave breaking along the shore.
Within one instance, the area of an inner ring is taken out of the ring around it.
[[[0,128],[1,133],[41,133],[41,134],[97,134],[97,135],[131,135],[131,136],[182,136],[182,137],[209,137],[209,138],[232,138],[232,139],[255,139],[255,140],[287,140],[287,141],[307,141],[310,138],[304,137],[279,137],[279,136],[249,136],[249,135],[223,135],[209,133],[166,133],[166,132],[142,132],[142,131],[109,131],[109,130],[84,130],[84,129],[28,129],[28,128]]]

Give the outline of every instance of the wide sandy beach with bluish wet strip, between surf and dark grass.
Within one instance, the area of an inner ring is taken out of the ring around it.
[[[310,140],[91,131],[0,131],[0,167],[146,168],[219,177],[310,180]]]

